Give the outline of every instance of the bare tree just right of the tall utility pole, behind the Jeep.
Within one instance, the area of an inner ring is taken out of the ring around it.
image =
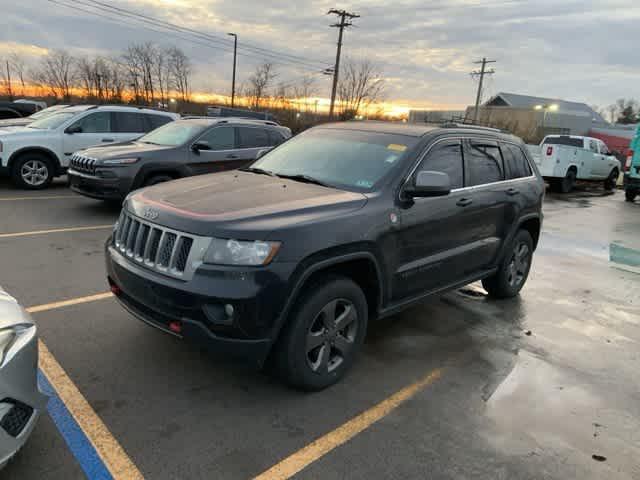
[[[378,68],[367,59],[348,59],[340,72],[338,98],[342,118],[355,117],[362,109],[380,100],[384,92],[384,79]]]

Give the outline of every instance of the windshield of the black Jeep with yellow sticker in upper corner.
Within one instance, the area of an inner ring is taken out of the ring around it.
[[[418,138],[357,130],[313,129],[272,150],[252,167],[368,191],[400,163]]]

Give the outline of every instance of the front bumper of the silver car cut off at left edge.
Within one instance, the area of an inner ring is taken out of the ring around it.
[[[0,468],[22,448],[47,406],[47,397],[38,388],[37,371],[34,325],[21,334],[0,367]]]

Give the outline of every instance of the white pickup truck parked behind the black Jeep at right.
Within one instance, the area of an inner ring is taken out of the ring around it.
[[[561,193],[569,193],[576,180],[604,182],[613,190],[620,175],[620,162],[597,138],[548,135],[534,160],[551,189]]]

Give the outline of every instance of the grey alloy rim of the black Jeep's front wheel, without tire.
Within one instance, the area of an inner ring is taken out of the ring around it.
[[[327,303],[307,331],[306,357],[311,370],[327,374],[338,368],[352,351],[358,333],[355,305],[345,299]]]

